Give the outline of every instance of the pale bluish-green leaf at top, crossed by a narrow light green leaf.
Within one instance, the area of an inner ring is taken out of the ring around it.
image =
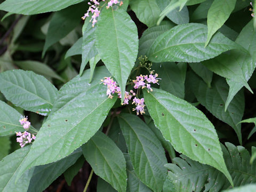
[[[166,6],[171,3],[172,0],[158,0],[157,5],[163,11]],[[189,22],[189,15],[187,7],[183,7],[181,11],[179,11],[179,7],[172,10],[166,15],[172,22],[176,23],[177,25],[185,24]]]

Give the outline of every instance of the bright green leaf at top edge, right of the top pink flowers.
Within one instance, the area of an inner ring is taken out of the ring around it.
[[[130,6],[135,12],[137,18],[145,23],[148,27],[155,26],[161,10],[159,9],[158,0],[132,0]]]

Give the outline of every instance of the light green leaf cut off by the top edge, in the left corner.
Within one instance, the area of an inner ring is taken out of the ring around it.
[[[38,14],[59,11],[80,2],[83,2],[83,0],[55,0],[54,2],[52,0],[6,0],[0,4],[0,10],[19,14]]]

